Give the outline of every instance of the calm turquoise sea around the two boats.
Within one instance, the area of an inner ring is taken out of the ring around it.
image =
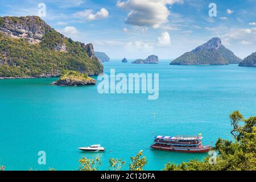
[[[159,99],[147,94],[99,94],[97,86],[52,86],[56,78],[0,80],[0,165],[7,170],[77,170],[82,156],[100,156],[100,169],[110,158],[130,157],[143,150],[147,170],[167,162],[202,159],[205,154],[155,151],[156,135],[197,135],[203,143],[232,139],[229,114],[256,114],[256,68],[237,65],[171,66],[104,63],[105,73],[159,73]],[[155,113],[155,116],[154,116]],[[77,148],[101,144],[106,152]],[[38,152],[46,152],[46,165]]]

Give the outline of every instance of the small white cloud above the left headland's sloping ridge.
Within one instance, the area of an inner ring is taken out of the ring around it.
[[[73,16],[86,20],[97,20],[102,18],[108,18],[109,11],[104,8],[102,8],[100,11],[97,11],[96,13],[93,13],[93,10],[84,10],[73,14]]]

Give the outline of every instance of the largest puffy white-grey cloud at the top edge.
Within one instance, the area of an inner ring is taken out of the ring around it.
[[[135,26],[159,28],[168,22],[171,14],[167,5],[183,3],[183,0],[127,0],[117,1],[117,7],[129,10],[126,23]]]

